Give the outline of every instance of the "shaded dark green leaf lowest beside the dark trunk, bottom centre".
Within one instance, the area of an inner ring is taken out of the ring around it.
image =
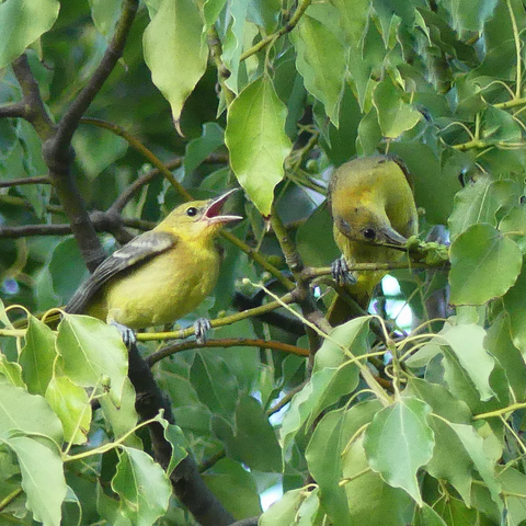
[[[203,479],[235,518],[251,517],[261,513],[254,479],[240,464],[224,458],[207,470]]]

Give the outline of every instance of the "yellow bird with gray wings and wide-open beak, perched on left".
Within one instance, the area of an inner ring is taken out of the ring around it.
[[[173,323],[192,312],[217,282],[216,236],[222,225],[242,219],[221,215],[235,191],[178,206],[156,228],[115,251],[78,288],[66,312],[105,320],[125,342],[134,341],[133,330]],[[203,340],[207,329],[207,320],[197,320],[196,336]]]

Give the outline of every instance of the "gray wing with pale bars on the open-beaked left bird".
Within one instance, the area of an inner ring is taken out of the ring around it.
[[[80,285],[65,308],[71,315],[82,313],[93,296],[110,278],[123,271],[140,265],[157,254],[165,252],[176,243],[176,237],[169,232],[145,232],[116,250],[104,260],[95,272]]]

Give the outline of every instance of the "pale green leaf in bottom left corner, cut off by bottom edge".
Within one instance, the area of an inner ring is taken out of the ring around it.
[[[33,518],[44,526],[59,526],[67,493],[59,450],[26,436],[13,436],[4,443],[19,460],[22,489]]]

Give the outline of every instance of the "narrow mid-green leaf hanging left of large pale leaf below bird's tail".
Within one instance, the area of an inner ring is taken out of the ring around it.
[[[46,393],[57,357],[55,340],[49,327],[38,318],[33,316],[27,318],[25,345],[20,353],[19,364],[22,366],[22,376],[27,390],[33,395]]]

